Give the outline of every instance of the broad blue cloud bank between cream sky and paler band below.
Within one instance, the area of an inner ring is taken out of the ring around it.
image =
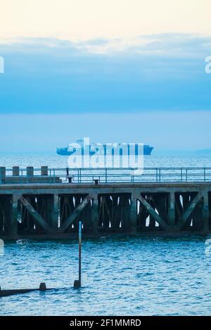
[[[208,37],[15,39],[0,55],[0,112],[211,110]]]

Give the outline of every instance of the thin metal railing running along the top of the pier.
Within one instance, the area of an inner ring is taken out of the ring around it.
[[[157,167],[135,169],[13,169],[0,167],[3,183],[181,183],[211,182],[211,167]]]

